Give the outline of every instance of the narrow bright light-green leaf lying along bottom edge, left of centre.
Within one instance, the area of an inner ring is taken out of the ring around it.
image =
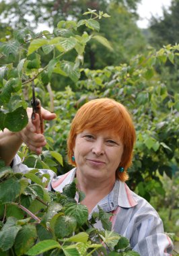
[[[61,248],[61,245],[57,241],[54,240],[44,240],[34,245],[26,254],[35,256],[40,253],[44,253],[45,251],[49,251],[51,249]]]

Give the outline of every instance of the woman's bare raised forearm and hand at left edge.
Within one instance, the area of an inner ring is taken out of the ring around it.
[[[46,145],[46,140],[43,134],[39,131],[40,120],[38,114],[32,124],[31,115],[32,108],[27,109],[29,122],[28,125],[17,133],[4,129],[0,131],[0,159],[5,161],[6,165],[11,164],[15,154],[19,150],[22,142],[26,143],[30,150],[40,154],[42,147]],[[44,120],[55,119],[56,115],[42,108],[42,118]]]

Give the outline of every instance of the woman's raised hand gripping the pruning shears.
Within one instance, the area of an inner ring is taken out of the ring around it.
[[[35,119],[32,123],[32,108],[27,108],[28,113],[28,125],[22,129],[22,131],[19,131],[16,133],[17,137],[19,139],[26,143],[28,148],[35,152],[36,154],[42,153],[42,147],[46,145],[46,140],[43,134],[40,133],[40,118],[39,115],[36,114]],[[52,120],[55,119],[57,116],[55,113],[50,113],[48,110],[41,108],[42,113],[42,119],[44,120]]]

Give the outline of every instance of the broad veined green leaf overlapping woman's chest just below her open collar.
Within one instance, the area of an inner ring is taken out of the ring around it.
[[[81,226],[87,222],[88,210],[85,205],[80,203],[68,203],[65,205],[65,214],[73,216],[77,220],[77,225]]]

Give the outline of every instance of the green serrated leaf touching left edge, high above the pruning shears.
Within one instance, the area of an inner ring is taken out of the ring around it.
[[[19,47],[20,47],[20,43],[17,41],[4,42],[0,46],[0,53],[3,53],[3,55],[5,55],[7,57],[9,55],[15,56],[15,55],[17,55],[17,53],[19,51]]]

